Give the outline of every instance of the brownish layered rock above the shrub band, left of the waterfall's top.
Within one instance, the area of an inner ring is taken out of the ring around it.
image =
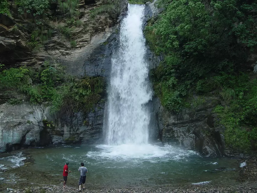
[[[119,9],[121,14],[119,18],[104,13],[92,19],[91,11],[100,7],[102,3],[103,1],[80,1],[78,8],[79,20],[82,23],[86,23],[87,27],[71,28],[69,33],[72,39],[76,39],[75,48],[72,48],[70,40],[63,39],[57,30],[60,26],[64,27],[64,22],[67,20],[54,22],[46,18],[47,27],[52,30],[52,37],[44,41],[43,48],[40,51],[32,51],[31,46],[28,44],[30,40],[29,33],[31,33],[29,28],[35,21],[32,22],[32,18],[27,14],[19,15],[16,5],[11,2],[13,17],[0,14],[0,62],[5,64],[6,67],[15,67],[21,65],[35,66],[42,64],[47,59],[55,60],[70,67],[70,73],[73,75],[85,75],[85,71],[87,71],[86,65],[91,64],[92,61],[94,61],[93,63],[96,62],[91,57],[105,60],[104,50],[107,48],[107,44],[111,42],[108,38],[113,32],[117,32],[117,24],[126,13],[128,1],[120,1]],[[57,3],[53,1],[50,6],[50,12],[55,13],[56,16],[65,17],[65,14],[62,14],[59,9]],[[42,31],[42,33],[46,34],[47,30]],[[84,63],[83,60],[89,61]],[[89,67],[89,69],[92,69],[92,67]]]

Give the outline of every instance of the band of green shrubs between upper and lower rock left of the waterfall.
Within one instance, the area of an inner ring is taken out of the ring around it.
[[[65,74],[64,68],[45,62],[43,68],[25,66],[0,72],[0,90],[18,91],[32,103],[51,102],[51,113],[90,111],[100,102],[105,90],[103,77],[76,77]],[[16,99],[10,100],[17,104]]]

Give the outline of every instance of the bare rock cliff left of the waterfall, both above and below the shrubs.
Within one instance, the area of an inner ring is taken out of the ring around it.
[[[83,15],[80,20],[89,22],[90,11],[101,3],[80,1],[79,12]],[[62,41],[61,36],[53,31],[53,37],[44,43],[44,49],[40,52],[32,51],[26,43],[28,33],[18,24],[18,21],[24,24],[25,19],[11,19],[0,14],[0,63],[6,67],[38,67],[45,60],[51,60],[66,65],[69,74],[77,77],[103,76],[108,82],[111,54],[117,45],[119,22],[126,14],[127,5],[127,0],[120,1],[121,15],[118,19],[106,13],[98,15],[97,23],[90,24],[87,29],[73,29],[71,33],[77,37],[75,48],[71,48],[69,41]],[[52,7],[56,9],[57,5],[53,3]],[[78,112],[73,117],[66,117],[51,115],[50,107],[46,104],[12,106],[5,103],[8,97],[4,92],[0,91],[0,96],[5,96],[0,99],[0,152],[27,146],[101,141],[104,104],[97,104],[89,113]]]

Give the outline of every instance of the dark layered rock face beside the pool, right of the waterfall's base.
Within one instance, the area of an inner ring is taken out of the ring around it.
[[[172,114],[163,108],[158,98],[154,98],[156,121],[155,135],[163,144],[171,144],[187,150],[194,150],[208,156],[226,156],[224,128],[218,124],[216,106],[209,98],[208,102],[197,108],[184,108],[179,114]]]

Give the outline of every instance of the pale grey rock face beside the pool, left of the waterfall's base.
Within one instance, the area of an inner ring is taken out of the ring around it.
[[[104,104],[73,117],[50,114],[45,105],[0,105],[0,152],[26,146],[96,143],[101,140]]]

